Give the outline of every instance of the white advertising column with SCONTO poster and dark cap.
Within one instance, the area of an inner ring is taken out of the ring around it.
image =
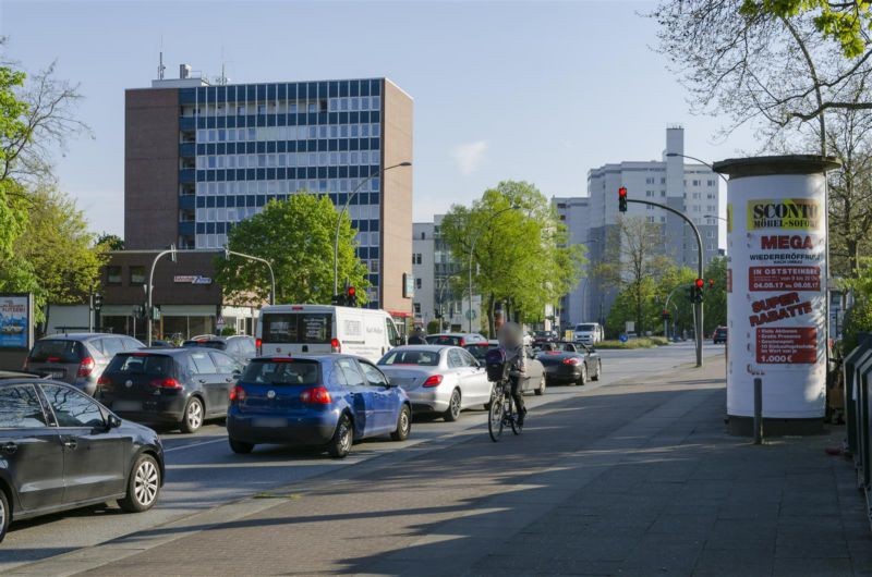
[[[826,401],[825,172],[783,156],[716,162],[727,188],[727,416],[751,434],[754,379],[767,435],[820,430]]]

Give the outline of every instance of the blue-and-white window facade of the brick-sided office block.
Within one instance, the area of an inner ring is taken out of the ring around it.
[[[179,89],[179,244],[216,248],[232,226],[301,191],[328,196],[358,230],[378,307],[383,79]]]

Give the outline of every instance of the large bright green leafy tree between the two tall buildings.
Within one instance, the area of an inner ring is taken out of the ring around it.
[[[545,306],[578,284],[585,261],[583,247],[566,246],[566,226],[545,195],[525,182],[504,181],[471,208],[451,207],[441,232],[465,268],[462,279],[472,253],[473,291],[489,304],[488,319],[501,302],[520,320],[543,320]],[[469,293],[461,280],[455,288]]]

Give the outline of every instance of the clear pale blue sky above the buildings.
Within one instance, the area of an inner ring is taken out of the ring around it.
[[[656,48],[654,2],[0,0],[5,58],[57,62],[78,84],[90,136],[56,157],[61,188],[95,232],[123,234],[124,90],[150,86],[162,48],[231,83],[387,76],[414,99],[414,220],[469,205],[504,180],[586,195],[590,169],[658,160],[666,126],[715,161],[750,130],[693,115]],[[722,186],[722,216],[725,191]]]

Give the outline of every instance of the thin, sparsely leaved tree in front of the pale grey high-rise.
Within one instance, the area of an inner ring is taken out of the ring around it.
[[[645,314],[646,303],[655,296],[657,283],[647,279],[661,279],[663,272],[673,267],[663,254],[664,238],[658,224],[646,222],[641,217],[620,217],[608,232],[603,262],[594,267],[594,275],[606,286],[627,293],[631,303],[631,319],[638,333],[651,329]]]

